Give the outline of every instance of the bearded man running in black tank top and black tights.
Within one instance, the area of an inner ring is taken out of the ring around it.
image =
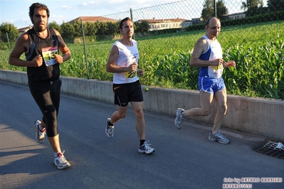
[[[44,4],[30,6],[31,30],[21,34],[9,57],[9,64],[27,67],[28,87],[43,114],[42,121],[34,124],[36,140],[43,143],[45,134],[54,152],[54,164],[58,169],[70,163],[63,156],[59,143],[57,116],[59,111],[61,80],[59,64],[70,58],[70,50],[58,31],[48,29],[49,10]],[[58,52],[61,51],[62,55]],[[20,56],[25,53],[26,60]]]

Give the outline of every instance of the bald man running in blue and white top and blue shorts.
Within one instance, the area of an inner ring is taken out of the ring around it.
[[[219,129],[223,123],[223,117],[227,110],[226,87],[223,82],[223,68],[235,67],[233,60],[224,62],[222,48],[216,37],[221,31],[221,23],[218,18],[210,18],[205,25],[206,35],[199,38],[194,46],[191,55],[190,65],[199,67],[198,87],[201,99],[201,108],[184,110],[177,109],[177,117],[174,120],[177,129],[181,129],[182,121],[186,117],[202,117],[211,113],[213,99],[218,106],[213,129],[209,133],[210,141],[219,141],[221,144],[228,144],[230,141],[223,136]]]

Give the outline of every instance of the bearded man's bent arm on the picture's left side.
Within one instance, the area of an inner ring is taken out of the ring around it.
[[[21,67],[39,67],[43,64],[41,55],[37,55],[33,60],[21,60],[20,56],[26,52],[29,48],[28,34],[23,33],[17,38],[14,49],[9,56],[9,64]]]

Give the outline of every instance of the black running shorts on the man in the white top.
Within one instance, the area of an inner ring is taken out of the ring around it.
[[[115,104],[120,107],[126,107],[128,102],[143,102],[143,94],[140,81],[124,84],[113,84],[113,92],[115,92]]]

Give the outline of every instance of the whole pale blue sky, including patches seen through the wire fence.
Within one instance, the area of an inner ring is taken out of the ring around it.
[[[205,0],[0,0],[0,24],[13,23],[17,28],[32,25],[31,19],[28,16],[28,9],[35,2],[48,6],[50,11],[49,23],[56,21],[56,23],[61,25],[63,22],[72,21],[80,16],[107,16],[130,11],[130,8],[132,10],[143,9],[149,6],[170,4],[175,1],[186,1],[186,4],[194,7],[192,10],[186,8],[183,10],[179,9],[179,11],[172,13],[172,16],[182,18],[184,13],[190,13],[192,18],[198,18],[200,17],[202,4]],[[224,1],[230,6],[229,13],[237,13],[241,12],[241,3],[246,0]],[[263,2],[266,5],[266,0],[263,0]],[[174,7],[167,7],[169,8],[167,10],[168,13],[174,11]],[[159,6],[159,9],[162,9],[162,6]],[[146,11],[143,14],[145,17],[147,16]]]

